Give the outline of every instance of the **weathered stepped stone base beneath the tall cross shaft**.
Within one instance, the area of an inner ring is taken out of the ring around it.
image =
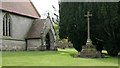
[[[83,58],[100,58],[101,53],[96,50],[94,45],[86,45],[82,47],[79,56]]]

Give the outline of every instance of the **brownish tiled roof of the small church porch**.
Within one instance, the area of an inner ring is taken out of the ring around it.
[[[28,34],[27,34],[27,39],[31,39],[31,38],[41,38],[42,35],[41,34],[46,34],[47,31],[51,28],[51,21],[49,18],[47,19],[36,19]]]

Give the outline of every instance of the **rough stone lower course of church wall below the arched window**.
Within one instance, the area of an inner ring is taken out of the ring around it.
[[[20,40],[2,40],[2,50],[7,51],[24,51],[26,50],[26,42]]]

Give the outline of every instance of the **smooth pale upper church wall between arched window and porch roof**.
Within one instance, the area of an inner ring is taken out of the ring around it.
[[[4,16],[6,12],[2,12]],[[25,39],[34,19],[9,13],[11,16],[11,36],[15,39]]]

